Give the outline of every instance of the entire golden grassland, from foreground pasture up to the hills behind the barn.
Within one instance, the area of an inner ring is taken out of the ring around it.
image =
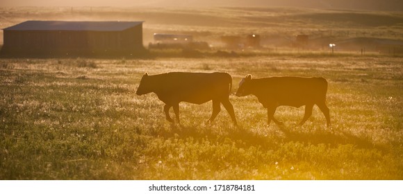
[[[0,179],[403,179],[401,53],[290,48],[299,34],[325,46],[363,37],[397,45],[402,12],[0,8],[1,28],[26,20],[145,21],[146,45],[153,33],[190,34],[213,46],[222,35],[258,33],[263,48],[0,58]],[[211,103],[181,103],[182,125],[165,121],[156,95],[135,91],[143,73],[167,71],[229,72],[239,126],[224,109],[206,124]],[[327,78],[332,126],[318,107],[302,127],[304,107],[279,107],[275,116],[286,125],[267,126],[256,97],[234,95],[247,73]]]

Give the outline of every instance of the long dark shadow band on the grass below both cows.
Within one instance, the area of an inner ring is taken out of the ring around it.
[[[269,130],[263,127],[262,130]],[[239,147],[248,148],[250,146],[262,147],[276,150],[282,143],[301,142],[306,144],[318,145],[325,144],[336,148],[338,145],[352,144],[356,148],[387,150],[385,146],[377,145],[372,141],[354,136],[348,132],[331,128],[318,128],[315,130],[304,130],[304,127],[276,127],[279,135],[265,136],[261,132],[253,132],[249,127],[211,127],[211,125],[176,125],[170,124],[170,127],[158,132],[158,136],[165,138],[175,137],[186,140],[191,138],[195,141],[211,141],[212,143],[231,142]],[[283,134],[283,135],[281,135]],[[230,141],[228,141],[230,140]]]

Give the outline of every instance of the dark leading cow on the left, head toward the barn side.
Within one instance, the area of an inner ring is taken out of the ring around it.
[[[179,123],[179,103],[187,102],[201,105],[212,100],[213,114],[211,114],[208,122],[214,121],[222,104],[227,109],[234,125],[237,125],[233,105],[229,101],[231,88],[232,77],[229,73],[224,72],[170,72],[152,76],[145,73],[135,93],[141,96],[154,92],[165,103],[165,117],[171,123],[174,123],[169,114],[171,107],[173,107],[176,121]]]

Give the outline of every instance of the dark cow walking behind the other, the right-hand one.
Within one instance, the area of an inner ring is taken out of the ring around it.
[[[277,107],[286,105],[302,107],[305,105],[305,114],[299,125],[304,125],[312,115],[313,105],[318,105],[326,117],[327,126],[330,126],[329,107],[326,105],[327,80],[324,78],[305,77],[270,77],[252,79],[252,75],[242,78],[236,96],[253,94],[259,103],[268,109],[268,125],[274,121],[283,125],[274,118]]]

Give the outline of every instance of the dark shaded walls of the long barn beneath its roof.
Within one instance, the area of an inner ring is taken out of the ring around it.
[[[142,25],[123,31],[5,30],[3,51],[28,55],[123,55],[142,49]]]

